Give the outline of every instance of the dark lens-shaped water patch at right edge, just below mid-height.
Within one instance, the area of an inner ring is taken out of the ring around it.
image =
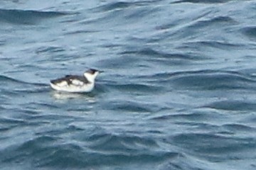
[[[205,105],[206,108],[221,109],[227,111],[255,111],[256,104],[247,101],[217,101]]]

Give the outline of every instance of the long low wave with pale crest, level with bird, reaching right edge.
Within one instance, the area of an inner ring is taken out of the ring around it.
[[[161,82],[176,89],[252,89],[256,80],[239,72],[199,70],[186,72],[163,72],[158,74],[138,77],[147,83]]]

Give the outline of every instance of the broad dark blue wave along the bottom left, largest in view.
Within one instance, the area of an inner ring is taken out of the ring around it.
[[[1,150],[1,162],[15,161],[31,164],[33,168],[85,169],[131,162],[151,164],[176,159],[180,155],[161,149],[153,138],[133,135],[95,134],[84,142],[73,143],[63,141],[62,137],[42,135]]]

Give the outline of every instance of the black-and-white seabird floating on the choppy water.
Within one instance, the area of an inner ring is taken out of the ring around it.
[[[50,86],[56,91],[90,92],[94,89],[95,78],[100,73],[97,69],[88,69],[83,76],[66,75],[50,80]]]

